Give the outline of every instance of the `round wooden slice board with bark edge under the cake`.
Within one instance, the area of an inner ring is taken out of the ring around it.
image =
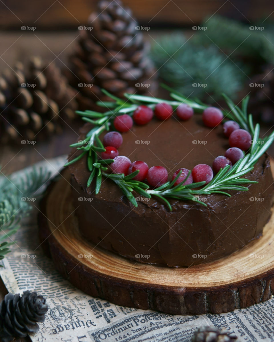
[[[80,236],[69,178],[63,172],[48,188],[39,234],[56,268],[80,290],[114,304],[180,315],[229,312],[273,295],[273,215],[260,239],[229,257],[189,268],[142,264]]]

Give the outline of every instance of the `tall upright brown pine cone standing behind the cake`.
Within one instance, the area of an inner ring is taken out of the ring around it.
[[[131,11],[120,0],[101,0],[88,23],[79,29],[66,71],[70,84],[80,91],[80,109],[98,109],[96,101],[109,101],[101,88],[118,97],[125,92],[153,94],[156,72]]]

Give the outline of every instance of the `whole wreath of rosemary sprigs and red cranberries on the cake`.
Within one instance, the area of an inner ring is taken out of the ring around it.
[[[135,207],[138,203],[133,192],[146,198],[158,197],[172,210],[169,198],[192,200],[206,206],[198,196],[213,193],[231,196],[228,191],[247,191],[248,188],[244,184],[258,183],[241,177],[253,169],[255,163],[271,145],[274,131],[264,139],[259,137],[259,124],[254,127],[252,115],[247,114],[249,97],[246,96],[242,100],[240,108],[223,95],[229,111],[222,112],[199,100],[190,100],[165,85],[163,87],[171,92],[172,101],[127,93],[124,94],[126,100],[121,100],[102,90],[114,101],[97,103],[108,108],[105,113],[92,110],[76,112],[84,121],[92,123],[93,128],[86,134],[84,141],[70,145],[82,152],[65,166],[87,156],[87,167],[90,171],[87,186],[95,180],[95,193],[98,194],[102,177],[106,177],[120,187]],[[168,181],[168,173],[164,167],[149,168],[145,161],[138,160],[132,163],[126,156],[119,156],[118,148],[123,142],[121,133],[130,130],[133,122],[144,125],[154,115],[159,120],[167,120],[174,110],[180,120],[190,119],[194,111],[202,113],[204,125],[212,128],[221,124],[224,117],[229,119],[223,123],[223,132],[228,137],[231,147],[226,150],[224,156],[215,158],[212,168],[206,164],[199,164],[193,170],[178,169],[173,174],[172,180]],[[104,131],[109,132],[101,142],[99,135]],[[112,173],[107,172],[107,165],[110,166]],[[144,183],[145,180],[148,184]]]

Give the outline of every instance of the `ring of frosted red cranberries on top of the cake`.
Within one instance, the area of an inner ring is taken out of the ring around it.
[[[158,103],[154,112],[150,107],[140,105],[133,113],[133,118],[127,114],[116,116],[114,119],[114,127],[119,132],[127,132],[133,126],[133,120],[138,125],[147,124],[155,115],[159,120],[167,120],[172,116],[173,108],[167,103]],[[180,104],[176,109],[177,117],[180,120],[190,119],[194,111],[187,104]],[[202,120],[207,127],[216,127],[223,120],[223,113],[220,109],[215,107],[208,107],[203,111]],[[125,156],[119,156],[118,148],[122,145],[123,138],[119,132],[109,132],[104,136],[103,145],[105,152],[102,152],[103,159],[113,159],[110,167],[115,173],[130,174],[136,170],[139,173],[133,178],[134,180],[144,181],[147,179],[152,187],[158,187],[167,181],[168,172],[162,166],[148,167],[147,163],[141,160],[136,160],[133,163]],[[196,165],[191,171],[189,177],[186,179],[189,170],[178,169],[172,176],[174,180],[181,171],[175,186],[183,183],[185,185],[193,182],[205,181],[208,184],[212,178],[213,173],[217,173],[221,168],[227,165],[234,165],[240,158],[244,156],[242,150],[247,150],[251,146],[251,135],[246,130],[240,129],[235,121],[226,121],[223,124],[223,133],[229,138],[229,145],[231,146],[225,152],[224,156],[219,156],[214,159],[212,168],[206,164]]]

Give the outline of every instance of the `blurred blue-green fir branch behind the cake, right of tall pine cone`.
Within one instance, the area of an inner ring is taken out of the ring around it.
[[[245,74],[212,42],[206,47],[202,41],[196,43],[199,35],[189,40],[182,34],[166,35],[152,44],[151,56],[159,76],[177,91],[209,103],[213,98],[219,100],[223,92],[235,96],[244,85]],[[244,65],[240,68],[247,73]]]

